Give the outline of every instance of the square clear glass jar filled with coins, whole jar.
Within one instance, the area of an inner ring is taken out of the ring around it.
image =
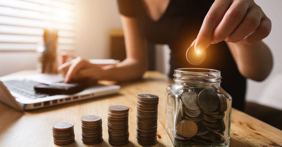
[[[165,128],[174,146],[229,146],[231,96],[220,87],[220,71],[174,70],[167,87]]]

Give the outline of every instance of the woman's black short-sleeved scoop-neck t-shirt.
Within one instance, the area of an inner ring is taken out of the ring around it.
[[[203,19],[214,1],[170,0],[167,10],[153,21],[142,0],[118,0],[119,11],[124,16],[137,18],[139,28],[148,42],[168,44],[170,53],[170,77],[176,68],[210,68],[221,71],[221,87],[232,96],[232,106],[244,108],[246,79],[241,76],[225,42],[211,45],[206,59],[200,65],[186,60],[186,50],[196,39]]]

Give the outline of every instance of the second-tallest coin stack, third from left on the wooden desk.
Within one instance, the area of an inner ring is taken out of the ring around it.
[[[129,142],[128,111],[129,108],[122,105],[110,106],[108,109],[108,140],[113,146]]]

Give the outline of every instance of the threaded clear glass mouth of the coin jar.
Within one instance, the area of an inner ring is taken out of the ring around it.
[[[175,82],[190,84],[220,83],[220,71],[206,68],[177,68],[174,70]]]

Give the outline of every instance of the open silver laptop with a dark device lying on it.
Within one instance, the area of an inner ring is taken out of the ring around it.
[[[16,110],[31,110],[68,102],[90,99],[119,91],[119,85],[95,85],[71,95],[48,95],[34,90],[37,84],[64,84],[60,75],[31,74],[0,77],[0,102]]]

